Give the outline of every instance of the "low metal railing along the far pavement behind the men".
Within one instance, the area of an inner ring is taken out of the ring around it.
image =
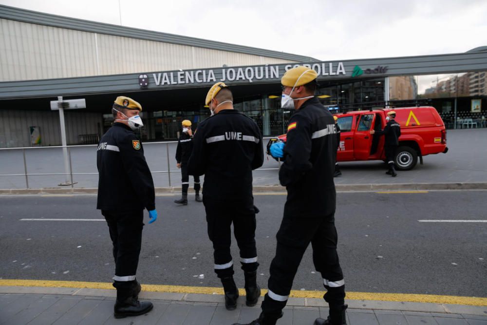
[[[264,140],[271,139],[272,137],[265,137],[263,138]],[[165,145],[166,146],[166,158],[167,158],[167,169],[166,170],[159,170],[159,171],[151,171],[151,174],[168,174],[168,181],[169,181],[169,187],[171,187],[171,173],[180,173],[180,171],[175,170],[171,171],[170,170],[170,160],[169,160],[169,145],[170,144],[176,144],[177,141],[166,141],[166,142],[146,142],[144,143],[144,146],[152,146],[152,145]],[[265,146],[265,143],[264,143]],[[73,146],[52,146],[52,147],[23,147],[23,148],[0,148],[0,155],[2,152],[5,151],[21,151],[22,152],[22,158],[23,158],[23,173],[7,173],[7,174],[0,174],[0,176],[24,176],[25,177],[25,188],[29,189],[29,176],[65,176],[66,177],[66,184],[59,184],[59,186],[71,186],[71,188],[74,188],[75,179],[74,176],[76,175],[98,175],[98,172],[73,172],[73,160],[72,160],[72,154],[71,150],[74,148],[86,148],[86,147],[92,147],[94,150],[97,147],[97,145],[73,145]],[[36,150],[36,151],[47,151],[49,149],[67,149],[67,155],[68,155],[68,161],[69,161],[69,172],[47,172],[47,173],[34,173],[34,172],[28,172],[27,170],[27,159],[26,159],[26,151],[31,151],[31,150]],[[265,147],[264,147],[264,154],[265,154]],[[1,161],[1,160],[0,160]],[[278,162],[279,167],[278,168],[259,168],[259,171],[269,171],[269,170],[279,170],[281,167],[281,161],[279,160]],[[1,167],[1,164],[0,164]],[[1,179],[1,178],[0,178]]]

